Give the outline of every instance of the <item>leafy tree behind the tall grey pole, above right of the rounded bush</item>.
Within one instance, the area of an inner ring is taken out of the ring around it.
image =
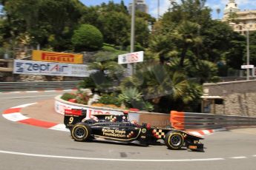
[[[148,47],[148,22],[154,21],[150,15],[137,12],[135,30],[138,46]],[[87,7],[80,23],[97,27],[102,32],[105,43],[120,46],[122,49],[130,44],[131,16],[123,1],[120,4],[109,1],[108,4]]]

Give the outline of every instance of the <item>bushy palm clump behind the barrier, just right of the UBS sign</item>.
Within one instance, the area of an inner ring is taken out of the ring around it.
[[[138,89],[145,101],[154,103],[155,111],[169,112],[170,109],[183,109],[190,103],[198,104],[202,95],[199,84],[188,81],[183,69],[179,69],[179,60],[169,64],[147,65],[142,64],[137,72],[125,78],[120,84],[120,89]],[[188,59],[184,62],[189,69]],[[192,106],[191,105],[191,106]]]

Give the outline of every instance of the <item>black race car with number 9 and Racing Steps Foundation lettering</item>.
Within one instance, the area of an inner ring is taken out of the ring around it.
[[[64,123],[70,129],[71,137],[82,142],[88,140],[108,140],[121,143],[137,143],[143,146],[164,141],[168,149],[203,152],[202,137],[191,135],[178,129],[157,128],[148,123],[137,124],[124,115],[87,115],[85,109],[65,109]]]

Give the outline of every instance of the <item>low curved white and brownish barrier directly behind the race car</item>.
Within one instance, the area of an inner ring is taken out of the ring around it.
[[[112,109],[106,107],[88,106],[79,103],[71,103],[62,100],[60,97],[61,95],[58,95],[55,98],[55,111],[60,114],[64,114],[65,109],[86,109],[88,115],[122,115],[124,111],[122,109]],[[169,114],[129,111],[129,120],[137,120],[137,123],[140,124],[149,123],[151,126],[170,126],[169,118]]]

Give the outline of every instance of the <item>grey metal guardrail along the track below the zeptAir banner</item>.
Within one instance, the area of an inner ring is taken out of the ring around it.
[[[75,89],[80,81],[1,82],[0,92]]]

